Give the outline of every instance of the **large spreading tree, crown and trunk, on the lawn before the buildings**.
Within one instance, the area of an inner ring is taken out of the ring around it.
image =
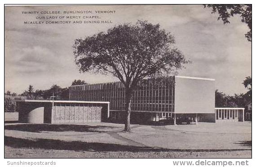
[[[147,21],[125,23],[73,45],[80,72],[93,71],[117,77],[125,87],[125,131],[130,131],[132,92],[147,77],[167,76],[189,63],[174,47],[174,36]]]

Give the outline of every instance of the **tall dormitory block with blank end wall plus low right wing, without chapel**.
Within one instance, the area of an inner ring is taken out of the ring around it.
[[[109,101],[109,120],[122,121],[125,119],[124,93],[121,82],[75,85],[70,87],[70,100]],[[243,109],[231,111],[232,116],[230,110],[215,109],[215,79],[187,76],[144,79],[133,92],[131,122],[173,118],[175,124],[182,117],[194,122],[243,120],[238,120]]]

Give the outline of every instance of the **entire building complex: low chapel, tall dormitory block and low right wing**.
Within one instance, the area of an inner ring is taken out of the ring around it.
[[[244,121],[244,108],[215,108],[214,85],[215,79],[198,77],[144,79],[133,91],[130,120],[173,124],[184,120]],[[69,91],[70,100],[18,100],[19,122],[124,122],[125,88],[121,82],[76,85]]]

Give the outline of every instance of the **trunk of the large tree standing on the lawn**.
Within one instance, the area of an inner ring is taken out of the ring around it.
[[[125,89],[125,126],[124,131],[130,132],[130,115],[131,115],[131,102],[132,102],[132,91],[128,88]]]

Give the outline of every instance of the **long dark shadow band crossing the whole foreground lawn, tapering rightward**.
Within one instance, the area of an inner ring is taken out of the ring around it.
[[[179,151],[179,152],[216,152],[216,151],[239,151],[252,149],[219,149],[219,150],[190,150],[190,149],[165,149],[150,146],[126,146],[111,143],[98,142],[79,142],[79,141],[62,141],[54,139],[23,139],[4,136],[4,145],[14,148],[40,148],[47,150],[75,150],[75,151],[129,151],[129,152],[160,152],[160,151]]]

